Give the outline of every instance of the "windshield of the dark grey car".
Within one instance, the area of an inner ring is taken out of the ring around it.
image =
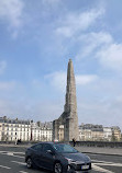
[[[63,152],[63,153],[76,153],[76,152],[78,152],[76,149],[74,149],[69,145],[65,145],[65,143],[54,143],[53,147],[57,152]]]

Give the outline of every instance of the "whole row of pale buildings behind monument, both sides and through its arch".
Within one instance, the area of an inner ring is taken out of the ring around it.
[[[64,141],[64,125],[59,126],[59,141]],[[30,120],[0,117],[0,141],[52,141],[53,123],[33,123]],[[81,124],[79,141],[121,141],[121,129],[118,126]]]

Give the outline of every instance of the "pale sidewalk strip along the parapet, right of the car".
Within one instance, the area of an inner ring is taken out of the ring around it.
[[[78,151],[95,154],[121,155],[122,148],[101,148],[101,147],[75,147]]]

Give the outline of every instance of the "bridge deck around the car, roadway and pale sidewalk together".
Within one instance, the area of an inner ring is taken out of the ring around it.
[[[49,173],[45,170],[27,170],[24,162],[26,145],[0,145],[1,173]],[[92,170],[88,173],[121,173],[122,148],[77,146],[76,149],[91,158]]]

